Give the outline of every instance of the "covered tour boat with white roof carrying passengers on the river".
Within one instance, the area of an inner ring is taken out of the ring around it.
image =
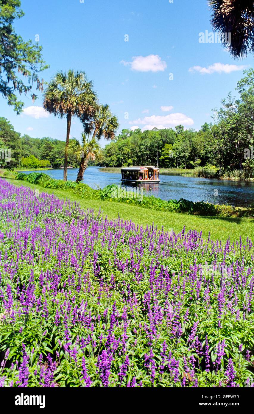
[[[130,183],[159,183],[159,168],[146,167],[124,167],[121,168],[121,181]]]

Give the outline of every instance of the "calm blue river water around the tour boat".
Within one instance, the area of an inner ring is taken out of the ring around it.
[[[52,178],[62,179],[63,170],[42,171]],[[67,170],[67,179],[76,181],[78,168]],[[29,173],[27,171],[26,173]],[[185,198],[192,201],[206,201],[216,204],[246,206],[254,202],[254,183],[239,183],[235,181],[221,181],[207,178],[182,176],[160,176],[159,184],[139,184],[155,197],[163,200],[170,198],[179,200]],[[104,188],[108,184],[119,184],[120,174],[102,173],[98,167],[88,167],[84,174],[84,183],[92,188]],[[218,195],[217,195],[218,194]]]

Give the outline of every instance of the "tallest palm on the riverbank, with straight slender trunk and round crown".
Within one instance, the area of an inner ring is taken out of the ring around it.
[[[57,72],[47,84],[44,92],[44,109],[55,116],[67,118],[64,180],[67,180],[68,146],[73,116],[89,120],[95,113],[97,96],[93,91],[93,82],[89,81],[85,72]]]

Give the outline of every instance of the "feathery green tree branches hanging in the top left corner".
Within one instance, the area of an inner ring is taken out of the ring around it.
[[[37,96],[32,92],[43,90],[43,79],[39,73],[48,68],[42,59],[42,47],[31,40],[24,41],[15,33],[14,19],[24,16],[19,0],[0,0],[0,92],[17,114],[22,112],[24,102],[16,94],[31,94],[33,101]]]

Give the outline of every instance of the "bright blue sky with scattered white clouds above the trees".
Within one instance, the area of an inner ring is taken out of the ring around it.
[[[206,0],[22,0],[22,9],[15,29],[24,39],[39,35],[50,65],[45,81],[58,70],[84,70],[120,130],[199,129],[253,65],[251,55],[233,60],[220,44],[199,43],[200,32],[211,32]],[[43,113],[41,95],[24,102],[17,116],[1,97],[1,116],[22,135],[65,140],[66,121]],[[81,131],[74,118],[71,136]]]

